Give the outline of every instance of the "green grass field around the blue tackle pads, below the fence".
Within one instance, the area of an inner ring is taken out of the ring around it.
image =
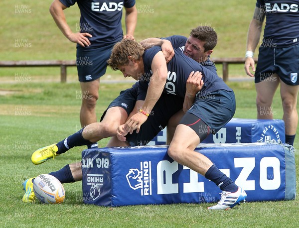
[[[252,83],[230,83],[237,97],[235,117],[255,118],[255,90]],[[100,116],[121,89],[130,84],[102,84],[97,107]],[[77,83],[3,84],[0,96],[0,227],[298,227],[295,201],[246,203],[230,211],[208,211],[211,204],[148,205],[106,208],[84,205],[81,182],[64,184],[62,205],[24,204],[23,180],[49,173],[81,159],[85,147],[38,166],[32,152],[80,129],[81,100]],[[62,92],[63,91],[63,92]],[[275,97],[275,118],[282,117]],[[100,142],[105,146],[107,140]],[[298,147],[298,140],[295,147]],[[296,159],[298,163],[298,158]],[[298,171],[298,170],[297,170]]]

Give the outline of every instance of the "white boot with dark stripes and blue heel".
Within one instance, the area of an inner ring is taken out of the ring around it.
[[[208,207],[210,210],[228,210],[240,205],[241,202],[245,202],[247,197],[246,192],[239,187],[237,192],[225,192],[222,191],[221,199],[217,205]]]

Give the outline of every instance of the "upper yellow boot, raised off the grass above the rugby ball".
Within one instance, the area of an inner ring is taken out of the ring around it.
[[[49,160],[50,158],[54,159],[55,156],[58,156],[59,154],[56,154],[57,151],[58,147],[56,146],[56,144],[39,148],[32,154],[31,161],[33,164],[39,165],[41,163],[44,163],[46,160]]]

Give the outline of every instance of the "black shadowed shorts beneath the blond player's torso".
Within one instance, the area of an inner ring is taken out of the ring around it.
[[[173,114],[176,114],[183,107],[184,99],[168,94],[162,94],[153,107],[147,121],[141,125],[137,134],[136,130],[132,134],[126,135],[127,142],[131,146],[146,145],[151,141],[164,127]]]

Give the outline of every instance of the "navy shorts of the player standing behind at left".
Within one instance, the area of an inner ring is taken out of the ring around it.
[[[107,60],[110,58],[114,44],[105,47],[77,47],[76,65],[79,82],[91,82],[106,73]]]

